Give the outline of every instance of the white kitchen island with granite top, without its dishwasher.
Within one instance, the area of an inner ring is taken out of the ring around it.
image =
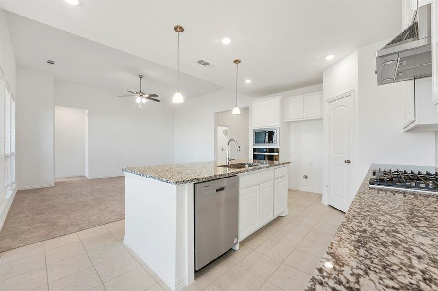
[[[193,162],[123,169],[124,243],[172,290],[194,281],[195,183],[238,176],[238,242],[275,217],[287,215],[290,162],[236,160],[231,165],[241,163],[257,165],[236,169],[217,162]]]

